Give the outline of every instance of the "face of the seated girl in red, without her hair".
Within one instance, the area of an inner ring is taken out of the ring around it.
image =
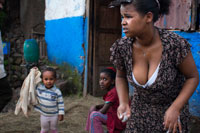
[[[100,73],[99,85],[102,90],[109,90],[113,84],[114,80],[107,73]]]

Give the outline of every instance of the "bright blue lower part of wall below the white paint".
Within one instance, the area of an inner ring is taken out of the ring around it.
[[[82,44],[85,43],[87,29],[84,18],[70,17],[45,23],[48,59],[57,64],[68,63],[82,72],[85,56]]]

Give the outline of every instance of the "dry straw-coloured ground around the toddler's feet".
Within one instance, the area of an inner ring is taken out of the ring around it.
[[[101,98],[88,95],[87,97],[65,97],[65,117],[59,122],[59,133],[86,133],[84,130],[87,113],[90,106],[100,104]],[[23,113],[14,115],[14,111],[0,113],[0,133],[39,133],[40,114],[34,110],[26,118]]]

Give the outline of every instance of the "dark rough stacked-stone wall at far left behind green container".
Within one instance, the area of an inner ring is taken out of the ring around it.
[[[10,43],[10,53],[5,55],[5,67],[10,86],[15,89],[22,85],[26,77],[22,66],[24,35],[19,20],[13,22],[9,30],[4,33],[3,41]]]

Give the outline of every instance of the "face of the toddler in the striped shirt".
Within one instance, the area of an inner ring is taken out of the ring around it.
[[[43,72],[42,82],[44,83],[47,89],[52,88],[54,83],[56,82],[56,78],[54,77],[53,72],[51,71]]]

